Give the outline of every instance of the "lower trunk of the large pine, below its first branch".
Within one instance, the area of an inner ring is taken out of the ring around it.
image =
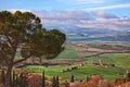
[[[12,66],[10,65],[8,67],[6,74],[5,74],[5,87],[11,87],[11,72],[12,72]]]

